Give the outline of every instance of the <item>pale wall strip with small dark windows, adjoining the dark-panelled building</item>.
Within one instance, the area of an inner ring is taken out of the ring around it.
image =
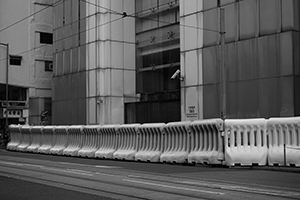
[[[45,61],[52,61],[52,44],[40,43],[40,32],[53,33],[52,8],[53,0],[31,0],[30,13],[36,15],[30,18],[30,49],[29,52],[29,123],[41,124],[41,113],[48,110],[51,114],[49,106],[45,106],[48,99],[51,98],[52,92],[52,72],[45,71]],[[40,11],[42,10],[42,11]],[[40,11],[40,12],[39,12]],[[51,116],[48,116],[50,118]],[[51,120],[44,122],[51,123]]]

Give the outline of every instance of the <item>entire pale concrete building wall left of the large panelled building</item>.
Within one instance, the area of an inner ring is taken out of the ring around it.
[[[40,123],[40,113],[44,106],[40,107],[38,102],[43,102],[52,95],[52,72],[46,72],[44,66],[45,60],[52,60],[52,45],[40,44],[39,41],[39,32],[52,32],[51,4],[52,0],[0,1],[0,29],[8,27],[1,31],[0,42],[9,43],[10,55],[22,56],[21,66],[9,66],[9,85],[28,89],[29,116],[23,117],[29,119],[26,119],[29,124]],[[46,9],[30,16],[44,8]],[[25,20],[20,21],[21,19]],[[14,25],[10,26],[12,24]],[[6,83],[5,58],[6,48],[1,46],[1,84]]]

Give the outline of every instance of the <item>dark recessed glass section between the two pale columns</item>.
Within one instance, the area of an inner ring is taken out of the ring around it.
[[[125,104],[125,123],[181,120],[179,1],[135,1],[137,102]]]

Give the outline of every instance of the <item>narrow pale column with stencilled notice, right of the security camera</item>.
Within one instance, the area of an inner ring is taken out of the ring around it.
[[[203,118],[203,1],[180,1],[181,119]]]

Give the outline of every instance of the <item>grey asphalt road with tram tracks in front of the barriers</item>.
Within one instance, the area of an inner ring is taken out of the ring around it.
[[[0,199],[300,199],[297,170],[181,166],[0,150],[0,191],[5,197]]]

